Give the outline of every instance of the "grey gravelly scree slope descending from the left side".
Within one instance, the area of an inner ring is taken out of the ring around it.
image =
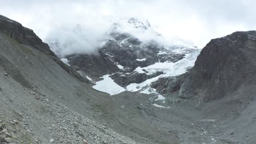
[[[13,26],[13,21],[1,20]],[[137,130],[143,135],[124,130],[129,118],[117,119],[124,115],[121,104],[67,73],[36,47],[0,32],[0,51],[0,143],[162,141],[160,135],[155,140],[145,137],[158,134],[151,128],[147,129],[150,133],[144,133],[142,125]],[[138,113],[134,110],[129,111]],[[137,114],[135,117],[142,119]],[[118,133],[110,127],[117,128]],[[177,143],[172,134],[168,136],[167,140]]]

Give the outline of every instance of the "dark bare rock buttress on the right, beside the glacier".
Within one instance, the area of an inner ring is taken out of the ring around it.
[[[241,86],[256,83],[256,31],[213,39],[197,57],[179,90],[179,97],[221,99]]]

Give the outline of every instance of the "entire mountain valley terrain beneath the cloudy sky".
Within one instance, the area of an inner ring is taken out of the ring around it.
[[[0,143],[256,143],[256,31],[199,49],[131,17],[98,41],[63,54],[0,15]]]

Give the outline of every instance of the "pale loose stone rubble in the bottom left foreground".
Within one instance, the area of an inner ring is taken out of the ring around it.
[[[23,118],[19,112],[11,114],[8,111],[4,114],[5,117],[3,114],[0,115],[0,143],[137,143],[69,110],[55,100],[47,101],[46,98],[42,98],[41,101],[46,116]],[[11,120],[11,117],[17,116],[24,122]],[[38,123],[34,125],[33,121],[36,119]]]

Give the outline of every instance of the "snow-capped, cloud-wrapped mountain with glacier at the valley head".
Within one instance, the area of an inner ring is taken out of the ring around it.
[[[79,31],[83,31],[80,26]],[[166,45],[162,39],[148,21],[132,17],[114,22],[96,53],[74,53],[62,61],[94,82],[95,89],[110,95],[124,91],[157,93],[150,87],[152,82],[185,73],[200,51],[190,44]],[[51,46],[61,49],[58,41]]]

